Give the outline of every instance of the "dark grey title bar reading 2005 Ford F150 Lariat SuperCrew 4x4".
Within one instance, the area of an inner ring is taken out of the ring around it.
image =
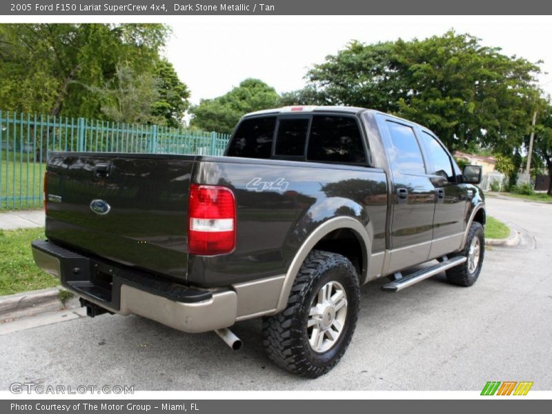
[[[8,0],[0,3],[3,15],[358,15],[358,14],[551,14],[552,2],[542,0],[266,0],[266,1],[52,1]]]

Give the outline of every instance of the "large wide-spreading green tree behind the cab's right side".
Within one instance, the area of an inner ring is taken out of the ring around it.
[[[431,128],[451,150],[473,143],[508,153],[528,130],[538,63],[502,55],[469,34],[365,45],[315,65],[324,101],[395,113]]]

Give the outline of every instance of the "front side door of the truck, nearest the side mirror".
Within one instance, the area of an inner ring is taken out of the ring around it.
[[[418,130],[427,159],[429,177],[435,186],[435,215],[430,258],[456,250],[464,237],[466,188],[457,181],[453,160],[442,143],[431,132]]]

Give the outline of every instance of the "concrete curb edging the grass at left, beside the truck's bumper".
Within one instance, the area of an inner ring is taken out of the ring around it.
[[[30,292],[0,296],[0,319],[8,314],[31,311],[32,308],[38,310],[52,305],[61,308],[61,302],[58,299],[60,288],[61,286],[59,288],[31,290]]]

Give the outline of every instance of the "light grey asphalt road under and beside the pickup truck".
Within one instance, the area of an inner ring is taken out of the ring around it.
[[[141,317],[79,317],[0,336],[0,389],[134,385],[136,390],[480,390],[487,381],[552,389],[552,204],[487,200],[526,230],[517,248],[488,248],[477,284],[437,275],[400,293],[362,288],[342,362],[304,380],[264,357],[257,320],[235,326],[231,351],[214,333],[187,335]]]

